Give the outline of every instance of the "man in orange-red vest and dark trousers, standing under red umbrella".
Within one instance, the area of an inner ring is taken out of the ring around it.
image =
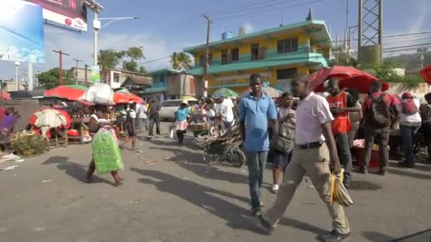
[[[361,109],[357,107],[356,101],[347,91],[340,90],[337,79],[330,79],[325,82],[325,89],[330,93],[326,100],[328,100],[331,113],[334,116],[332,134],[334,134],[337,143],[340,161],[345,166],[343,183],[348,188],[350,180],[352,180],[352,154],[350,154],[348,135],[352,125],[349,120],[349,112],[359,112]]]

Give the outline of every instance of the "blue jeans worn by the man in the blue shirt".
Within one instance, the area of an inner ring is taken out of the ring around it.
[[[264,180],[268,151],[246,151],[245,156],[247,157],[248,185],[250,187],[252,209],[257,210],[260,207],[260,188]]]

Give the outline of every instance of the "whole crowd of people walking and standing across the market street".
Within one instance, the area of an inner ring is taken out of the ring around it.
[[[183,100],[174,114],[173,128],[179,144],[184,142],[187,126],[192,122],[209,122],[217,129],[231,129],[237,125],[243,139],[248,168],[252,214],[266,229],[273,230],[284,215],[304,175],[308,175],[332,217],[333,230],[320,235],[322,241],[343,241],[349,238],[349,222],[340,204],[331,202],[332,175],[342,180],[345,188],[353,179],[352,147],[363,129],[364,153],[360,172],[367,174],[374,144],[379,146],[379,174],[388,171],[388,140],[391,130],[397,129],[403,140],[405,159],[401,166],[413,167],[414,138],[421,132],[427,140],[431,161],[431,93],[420,102],[409,92],[398,98],[382,92],[382,82],[374,81],[369,94],[359,100],[357,91],[340,88],[337,79],[325,81],[326,95],[318,95],[309,88],[308,75],[299,75],[292,81],[292,93],[283,93],[275,101],[262,91],[263,78],[250,76],[250,93],[239,101],[218,97],[215,103],[208,98],[196,105]],[[105,109],[96,107],[92,125],[94,129],[109,129],[104,125]],[[159,128],[160,103],[157,99],[126,109],[125,129],[135,149],[137,129],[144,129],[152,137],[154,125]],[[123,144],[123,145],[124,145]],[[267,161],[272,163],[272,192],[276,200],[263,212],[261,188]],[[344,170],[342,170],[344,169]],[[91,161],[87,181],[91,181],[94,161]],[[111,172],[116,185],[122,178]],[[342,174],[342,175],[341,175]]]

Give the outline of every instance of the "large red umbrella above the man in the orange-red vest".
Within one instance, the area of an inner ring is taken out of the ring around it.
[[[323,92],[325,91],[323,82],[332,78],[340,80],[340,88],[356,88],[359,93],[368,93],[371,82],[377,80],[375,76],[354,67],[335,66],[323,68],[311,74],[310,89]],[[390,85],[385,82],[383,83],[382,90],[386,91],[389,87]]]

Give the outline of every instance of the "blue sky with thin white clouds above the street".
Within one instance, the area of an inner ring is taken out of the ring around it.
[[[348,2],[348,18],[346,14]],[[371,1],[370,1],[371,2]],[[172,52],[184,47],[201,45],[206,40],[206,20],[203,13],[213,18],[211,41],[220,40],[223,30],[237,35],[239,28],[252,33],[274,28],[281,23],[297,23],[306,20],[308,9],[313,8],[313,18],[324,20],[331,30],[332,39],[342,38],[346,23],[357,25],[358,0],[99,0],[104,10],[99,18],[133,17],[136,20],[116,21],[99,32],[99,49],[125,50],[142,47],[146,59],[141,63],[147,70],[169,67]],[[430,0],[384,0],[384,36],[431,31]],[[58,67],[58,54],[63,67],[75,66],[73,59],[82,59],[79,67],[93,63],[93,13],[88,13],[89,28],[86,33],[73,33],[45,25],[45,64],[35,64],[33,71],[46,71]],[[102,25],[106,21],[102,21]],[[352,29],[356,38],[357,31]],[[1,40],[0,40],[1,41]],[[431,42],[431,35],[412,35],[405,38],[385,39],[385,47],[399,47]],[[354,45],[354,44],[353,44]],[[401,52],[388,52],[395,56]],[[150,62],[150,63],[146,63]],[[20,76],[26,75],[26,64],[19,67]],[[13,62],[0,61],[0,79],[11,79],[15,73]]]

